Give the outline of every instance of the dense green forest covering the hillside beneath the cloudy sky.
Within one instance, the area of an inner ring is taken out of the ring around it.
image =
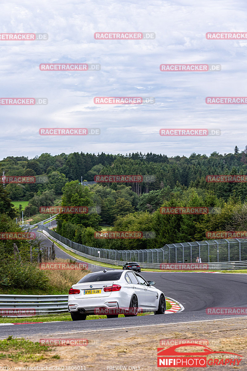
[[[190,157],[167,157],[153,153],[126,155],[74,152],[33,159],[7,157],[0,161],[6,176],[33,175],[46,179],[35,184],[0,185],[1,195],[12,201],[29,201],[27,217],[39,213],[40,206],[98,207],[98,213],[61,214],[57,233],[79,243],[112,249],[162,247],[166,243],[206,240],[207,231],[246,230],[246,183],[207,183],[207,175],[247,174],[247,147],[240,152],[220,155],[192,153]],[[154,181],[142,183],[98,183],[103,175],[152,175]],[[2,203],[2,201],[1,201]],[[216,207],[206,215],[162,215],[161,206]],[[99,209],[100,208],[100,209]],[[4,207],[0,204],[0,213]],[[13,209],[12,209],[13,210]],[[219,211],[220,210],[220,211]],[[10,212],[10,211],[9,211]],[[16,211],[15,211],[16,212]],[[14,211],[13,211],[14,213]],[[14,214],[9,217],[14,217]],[[16,214],[15,214],[16,215]],[[44,218],[45,219],[45,218]],[[152,239],[95,239],[100,224],[113,231],[152,231]]]

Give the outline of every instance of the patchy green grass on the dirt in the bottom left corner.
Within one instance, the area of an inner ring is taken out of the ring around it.
[[[41,361],[42,359],[59,359],[59,355],[50,355],[52,349],[38,342],[24,338],[14,339],[9,336],[0,340],[0,359],[14,362]]]

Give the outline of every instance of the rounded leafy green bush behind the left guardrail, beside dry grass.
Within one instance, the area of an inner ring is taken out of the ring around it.
[[[32,263],[8,262],[0,266],[1,288],[48,288],[46,274]]]

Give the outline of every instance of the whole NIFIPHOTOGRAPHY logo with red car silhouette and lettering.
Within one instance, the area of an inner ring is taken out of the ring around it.
[[[197,351],[183,352],[180,348],[197,347]],[[207,356],[208,357],[207,359]],[[213,351],[205,345],[187,343],[174,345],[169,348],[157,349],[157,367],[207,367],[230,365],[238,366],[242,356],[240,354]]]

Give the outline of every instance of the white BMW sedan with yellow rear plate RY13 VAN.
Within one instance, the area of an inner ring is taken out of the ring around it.
[[[166,299],[162,291],[140,273],[120,269],[89,273],[69,290],[68,309],[73,321],[87,315],[105,314],[116,318],[137,313],[164,314]]]

